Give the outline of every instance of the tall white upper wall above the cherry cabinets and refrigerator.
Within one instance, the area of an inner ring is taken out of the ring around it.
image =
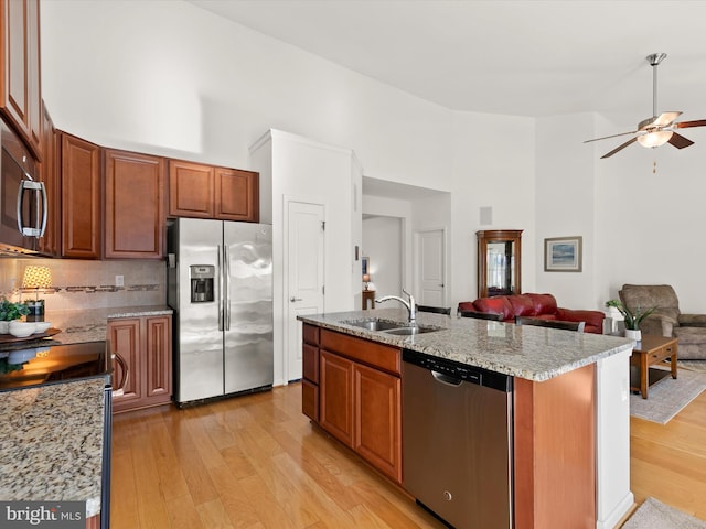
[[[366,174],[450,181],[452,114],[179,0],[41,0],[57,127],[106,147],[249,169],[269,129],[352,149]]]

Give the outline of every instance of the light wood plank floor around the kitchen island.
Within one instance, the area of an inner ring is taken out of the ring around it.
[[[301,414],[301,387],[115,415],[113,529],[442,528]],[[706,520],[706,392],[631,419],[632,490]]]

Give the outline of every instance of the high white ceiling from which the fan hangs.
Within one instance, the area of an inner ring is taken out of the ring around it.
[[[706,1],[191,0],[454,110],[706,118]]]

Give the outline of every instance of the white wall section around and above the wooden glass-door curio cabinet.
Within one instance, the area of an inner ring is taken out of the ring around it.
[[[478,296],[479,229],[523,229],[522,290],[534,292],[535,120],[458,114],[452,142],[450,305]],[[480,225],[480,208],[491,207],[493,222]]]

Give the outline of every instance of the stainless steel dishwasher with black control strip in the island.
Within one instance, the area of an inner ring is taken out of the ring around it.
[[[403,486],[459,529],[513,527],[512,377],[403,350]]]

